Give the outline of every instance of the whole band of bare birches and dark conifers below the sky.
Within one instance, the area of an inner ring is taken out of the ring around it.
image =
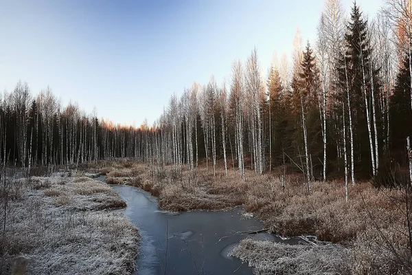
[[[388,0],[371,20],[356,3],[345,19],[339,1],[328,0],[313,46],[302,48],[297,34],[293,62],[274,61],[264,80],[255,49],[233,62],[227,83],[193,83],[138,129],[63,108],[49,89],[33,98],[18,83],[0,100],[0,157],[29,168],[139,157],[159,170],[195,170],[202,160],[215,175],[221,159],[242,178],[246,168],[264,173],[288,162],[308,192],[314,179],[376,177],[407,159],[411,19],[409,0]]]

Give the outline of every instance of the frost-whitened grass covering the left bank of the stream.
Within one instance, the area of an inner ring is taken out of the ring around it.
[[[124,214],[107,211],[126,206],[110,186],[63,175],[9,183],[14,196],[6,208],[0,273],[10,272],[19,254],[30,257],[29,274],[131,274],[135,270],[139,232]]]

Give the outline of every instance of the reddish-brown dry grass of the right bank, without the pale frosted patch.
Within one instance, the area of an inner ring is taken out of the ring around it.
[[[126,183],[151,192],[164,210],[228,210],[243,206],[275,234],[312,234],[321,241],[344,245],[350,249],[351,274],[402,273],[405,271],[401,266],[412,262],[407,254],[404,205],[396,203],[402,201],[399,190],[378,190],[364,182],[350,186],[346,202],[343,181],[315,181],[308,195],[299,175],[286,175],[283,189],[275,173],[258,175],[247,170],[247,181],[243,181],[237,171],[228,170],[225,175],[221,165],[216,176],[212,167],[207,171],[203,164],[196,173],[176,173],[170,166],[162,173],[152,173],[146,164],[138,162],[121,162],[113,169],[120,172],[111,175],[131,175],[108,177],[107,182]],[[393,248],[385,245],[384,236],[403,256],[404,263],[394,258]]]

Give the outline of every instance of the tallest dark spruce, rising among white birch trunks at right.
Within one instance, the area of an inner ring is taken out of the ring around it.
[[[372,68],[372,70],[370,69]],[[350,92],[350,108],[352,111],[353,133],[354,133],[354,154],[355,162],[359,170],[371,175],[372,170],[367,170],[374,162],[374,144],[371,144],[372,137],[376,135],[371,129],[372,110],[371,105],[371,79],[374,81],[374,96],[377,98],[379,87],[376,76],[378,69],[374,69],[371,64],[371,45],[367,33],[367,20],[358,5],[354,3],[350,15],[350,22],[347,24],[345,34],[345,52],[340,55],[338,61],[340,92],[336,94],[335,103],[341,106],[340,102],[347,101],[347,89]],[[372,76],[372,77],[371,77]],[[366,99],[365,99],[366,98]],[[337,109],[337,108],[336,108]],[[369,120],[367,118],[369,114]],[[380,115],[377,115],[380,117]],[[339,124],[339,123],[337,123]]]

